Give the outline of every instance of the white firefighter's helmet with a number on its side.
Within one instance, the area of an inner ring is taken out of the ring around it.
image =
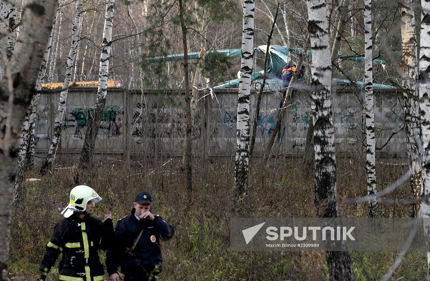
[[[61,215],[68,218],[73,213],[83,213],[86,210],[86,204],[89,201],[101,201],[101,197],[97,192],[89,186],[78,185],[70,191],[70,202],[67,207],[61,212]]]

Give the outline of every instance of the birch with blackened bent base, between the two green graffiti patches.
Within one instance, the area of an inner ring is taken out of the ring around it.
[[[112,27],[114,25],[114,0],[107,0],[104,19],[103,42],[101,43],[100,65],[98,70],[97,99],[92,117],[89,118],[83,148],[80,155],[80,167],[83,168],[92,160],[92,154],[97,139],[98,127],[104,114],[104,104],[107,95],[107,78],[109,75],[109,56],[111,55]]]

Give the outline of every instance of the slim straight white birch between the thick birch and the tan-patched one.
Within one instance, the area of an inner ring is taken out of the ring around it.
[[[373,102],[373,68],[372,68],[372,0],[364,1],[364,57],[365,57],[365,113],[366,113],[366,174],[367,194],[376,194],[376,170],[375,170],[375,123]],[[378,216],[378,202],[369,200],[369,217]]]

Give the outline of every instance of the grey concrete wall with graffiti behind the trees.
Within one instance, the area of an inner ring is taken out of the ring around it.
[[[90,111],[95,104],[95,88],[72,88],[66,103],[61,149],[80,153]],[[225,89],[214,95],[200,93],[198,122],[194,125],[193,153],[217,156],[231,155],[236,147],[237,89]],[[204,96],[204,97],[203,97]],[[337,151],[362,149],[365,137],[362,126],[362,105],[347,89],[333,93],[333,110]],[[36,152],[49,149],[59,93],[41,95],[36,123]],[[258,118],[255,153],[264,151],[273,130],[282,96],[264,93]],[[280,154],[299,155],[304,151],[310,124],[310,98],[307,93],[293,93],[283,118],[283,129],[277,140]],[[393,91],[375,94],[377,146],[404,124],[402,105]],[[256,94],[251,96],[251,117],[255,117]],[[165,153],[180,155],[185,137],[184,94],[169,90],[148,91],[141,101],[140,91],[109,88],[104,120],[99,126],[96,143],[98,154]],[[142,112],[139,117],[140,112]],[[251,123],[252,124],[252,123]],[[396,134],[382,151],[403,153],[404,132]],[[279,147],[280,145],[280,147]]]

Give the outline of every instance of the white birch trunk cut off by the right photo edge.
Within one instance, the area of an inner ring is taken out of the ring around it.
[[[430,0],[421,0],[423,10],[420,38],[419,98],[424,147],[421,214],[430,218]],[[430,273],[430,224],[424,220],[424,235],[427,244],[427,280]]]

